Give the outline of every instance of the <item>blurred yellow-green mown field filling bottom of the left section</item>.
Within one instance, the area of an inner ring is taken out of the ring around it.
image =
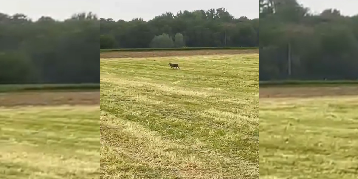
[[[0,107],[0,178],[98,179],[99,106]]]

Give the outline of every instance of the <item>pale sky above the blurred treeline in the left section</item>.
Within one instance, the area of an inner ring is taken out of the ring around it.
[[[64,20],[73,14],[100,11],[100,0],[1,0],[0,13],[13,15],[25,14],[32,20],[50,16]]]

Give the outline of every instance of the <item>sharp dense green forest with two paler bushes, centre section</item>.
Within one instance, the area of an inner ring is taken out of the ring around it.
[[[101,48],[257,47],[258,19],[224,8],[166,12],[149,21],[101,18]]]

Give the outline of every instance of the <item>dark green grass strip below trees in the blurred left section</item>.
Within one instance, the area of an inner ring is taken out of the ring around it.
[[[79,84],[0,84],[0,93],[22,91],[56,91],[100,89],[99,83]]]

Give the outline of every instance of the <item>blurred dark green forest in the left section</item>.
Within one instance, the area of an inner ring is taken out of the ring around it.
[[[0,84],[99,83],[100,20],[0,13]]]

